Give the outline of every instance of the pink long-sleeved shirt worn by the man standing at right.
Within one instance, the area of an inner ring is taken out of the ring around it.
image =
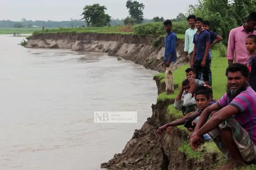
[[[248,51],[246,50],[245,40],[248,35],[256,35],[256,31],[247,34],[243,26],[231,29],[228,36],[227,44],[227,59],[234,61],[235,51],[235,62],[247,64],[248,62]]]

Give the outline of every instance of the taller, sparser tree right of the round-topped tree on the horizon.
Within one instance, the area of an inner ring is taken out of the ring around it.
[[[129,14],[131,18],[137,19],[137,23],[140,24],[143,22],[143,9],[145,5],[139,3],[138,1],[128,0],[126,2],[126,8],[129,9]]]

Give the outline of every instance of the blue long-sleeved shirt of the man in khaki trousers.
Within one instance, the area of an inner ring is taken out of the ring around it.
[[[172,53],[171,62],[176,62],[177,54],[176,54],[176,42],[177,36],[174,32],[170,32],[166,34],[164,43],[165,43],[165,51],[164,51],[164,63],[166,63]]]

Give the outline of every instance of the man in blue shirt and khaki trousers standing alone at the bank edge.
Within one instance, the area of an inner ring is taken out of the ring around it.
[[[176,62],[177,54],[176,54],[176,42],[177,36],[174,32],[172,32],[172,22],[171,20],[166,20],[164,23],[164,29],[167,32],[165,35],[165,51],[164,51],[164,59],[163,59],[163,68],[165,71],[165,90],[166,94],[174,93],[174,81],[173,81],[173,65]]]

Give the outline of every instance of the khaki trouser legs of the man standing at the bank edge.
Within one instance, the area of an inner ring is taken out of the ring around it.
[[[165,71],[165,85],[166,85],[166,94],[173,94],[174,93],[174,81],[173,81],[173,65],[174,63],[170,63],[170,66],[166,68]]]

